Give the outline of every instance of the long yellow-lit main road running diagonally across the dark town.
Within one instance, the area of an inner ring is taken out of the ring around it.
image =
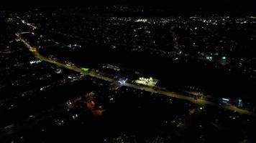
[[[108,81],[108,82],[118,82],[115,79],[111,79],[109,77],[104,77],[104,75],[101,75],[99,73],[94,73],[93,71],[83,72],[81,70],[81,67],[78,67],[75,64],[73,64],[71,66],[71,65],[68,65],[68,64],[63,64],[60,61],[56,61],[55,59],[50,59],[50,58],[47,58],[45,56],[42,56],[37,51],[37,48],[30,46],[27,43],[27,41],[24,41],[24,39],[22,39],[20,34],[16,34],[16,36],[18,37],[18,39],[20,41],[22,41],[24,43],[25,46],[27,46],[29,51],[32,51],[32,54],[34,54],[34,56],[37,57],[38,59],[40,59],[41,61],[47,61],[47,62],[55,64],[57,66],[64,67],[66,69],[70,69],[70,70],[73,70],[73,71],[77,71],[77,72],[86,74],[86,75],[91,76],[91,77],[96,77],[98,79],[103,79],[103,80]],[[232,110],[232,111],[235,111],[235,112],[239,112],[240,114],[250,114],[250,115],[254,115],[255,116],[255,114],[253,112],[250,112],[250,111],[245,110],[245,109],[239,109],[239,108],[237,108],[237,107],[235,107],[233,105],[229,105],[229,106],[225,105],[225,104],[219,105],[217,103],[207,101],[206,99],[194,99],[193,97],[188,97],[188,96],[185,96],[183,94],[176,93],[176,92],[169,92],[169,91],[163,91],[163,90],[155,90],[155,89],[152,89],[151,87],[143,87],[143,86],[138,86],[138,85],[129,84],[129,83],[125,83],[125,84],[123,84],[123,86],[125,86],[125,87],[132,87],[134,89],[142,89],[142,90],[145,90],[147,92],[152,92],[152,93],[164,94],[164,95],[167,95],[168,97],[173,97],[173,98],[177,98],[177,99],[187,100],[189,102],[193,102],[194,104],[198,104],[200,106],[204,106],[206,104],[211,104],[211,105],[214,105],[214,106],[222,107],[222,108],[227,109],[227,110]]]

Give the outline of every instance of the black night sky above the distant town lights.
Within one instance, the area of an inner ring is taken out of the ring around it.
[[[91,5],[128,5],[139,6],[143,8],[157,7],[168,8],[175,11],[201,11],[215,13],[231,14],[256,14],[253,1],[225,1],[225,0],[207,0],[207,1],[186,1],[186,0],[21,0],[21,1],[1,1],[1,8],[24,9],[27,7],[42,6],[91,6]]]

